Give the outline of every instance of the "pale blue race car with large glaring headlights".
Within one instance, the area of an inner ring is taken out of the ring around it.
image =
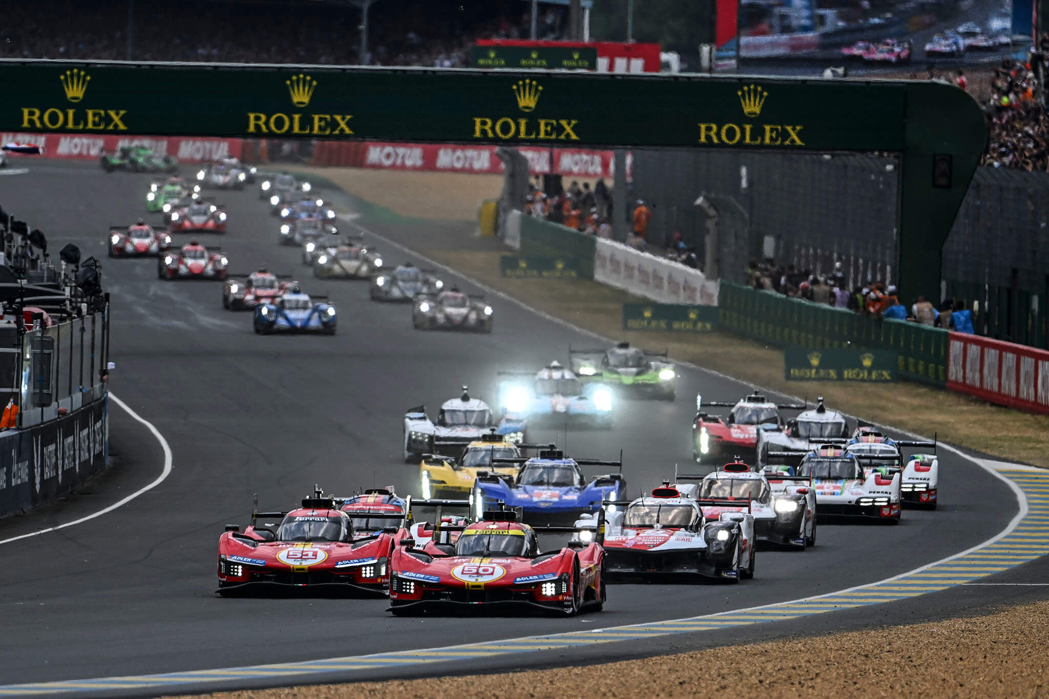
[[[571,427],[612,427],[612,389],[601,384],[583,385],[574,373],[551,362],[531,372],[499,372],[515,376],[499,384],[499,403],[507,422],[549,423]],[[528,380],[526,377],[530,378]]]

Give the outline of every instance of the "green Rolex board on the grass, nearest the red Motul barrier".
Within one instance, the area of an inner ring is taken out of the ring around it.
[[[784,348],[785,377],[789,381],[896,380],[896,352],[875,349],[832,349],[788,345]]]

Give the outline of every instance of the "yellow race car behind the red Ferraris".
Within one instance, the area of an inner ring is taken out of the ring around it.
[[[505,460],[514,459],[523,462],[521,450],[532,446],[532,444],[506,441],[504,435],[485,434],[479,441],[470,442],[457,459],[427,454],[419,466],[423,498],[430,500],[469,495],[478,472],[516,476],[518,464],[505,463]],[[547,449],[547,445],[543,444],[542,447]]]

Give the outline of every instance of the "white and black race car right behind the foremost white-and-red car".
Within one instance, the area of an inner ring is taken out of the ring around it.
[[[700,500],[708,520],[716,520],[722,512],[750,512],[754,517],[754,539],[758,543],[804,551],[816,543],[816,492],[809,479],[805,479],[804,484],[773,488],[771,478],[737,461],[726,463],[706,476],[679,475],[678,487],[685,487],[681,481],[700,481],[694,497]],[[801,477],[793,482],[799,480]],[[706,504],[711,501],[716,504]]]

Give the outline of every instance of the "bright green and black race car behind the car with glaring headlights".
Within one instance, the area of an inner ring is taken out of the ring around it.
[[[584,384],[605,384],[624,395],[673,400],[678,373],[666,355],[666,352],[645,352],[629,343],[618,343],[608,349],[569,347],[569,368]]]

